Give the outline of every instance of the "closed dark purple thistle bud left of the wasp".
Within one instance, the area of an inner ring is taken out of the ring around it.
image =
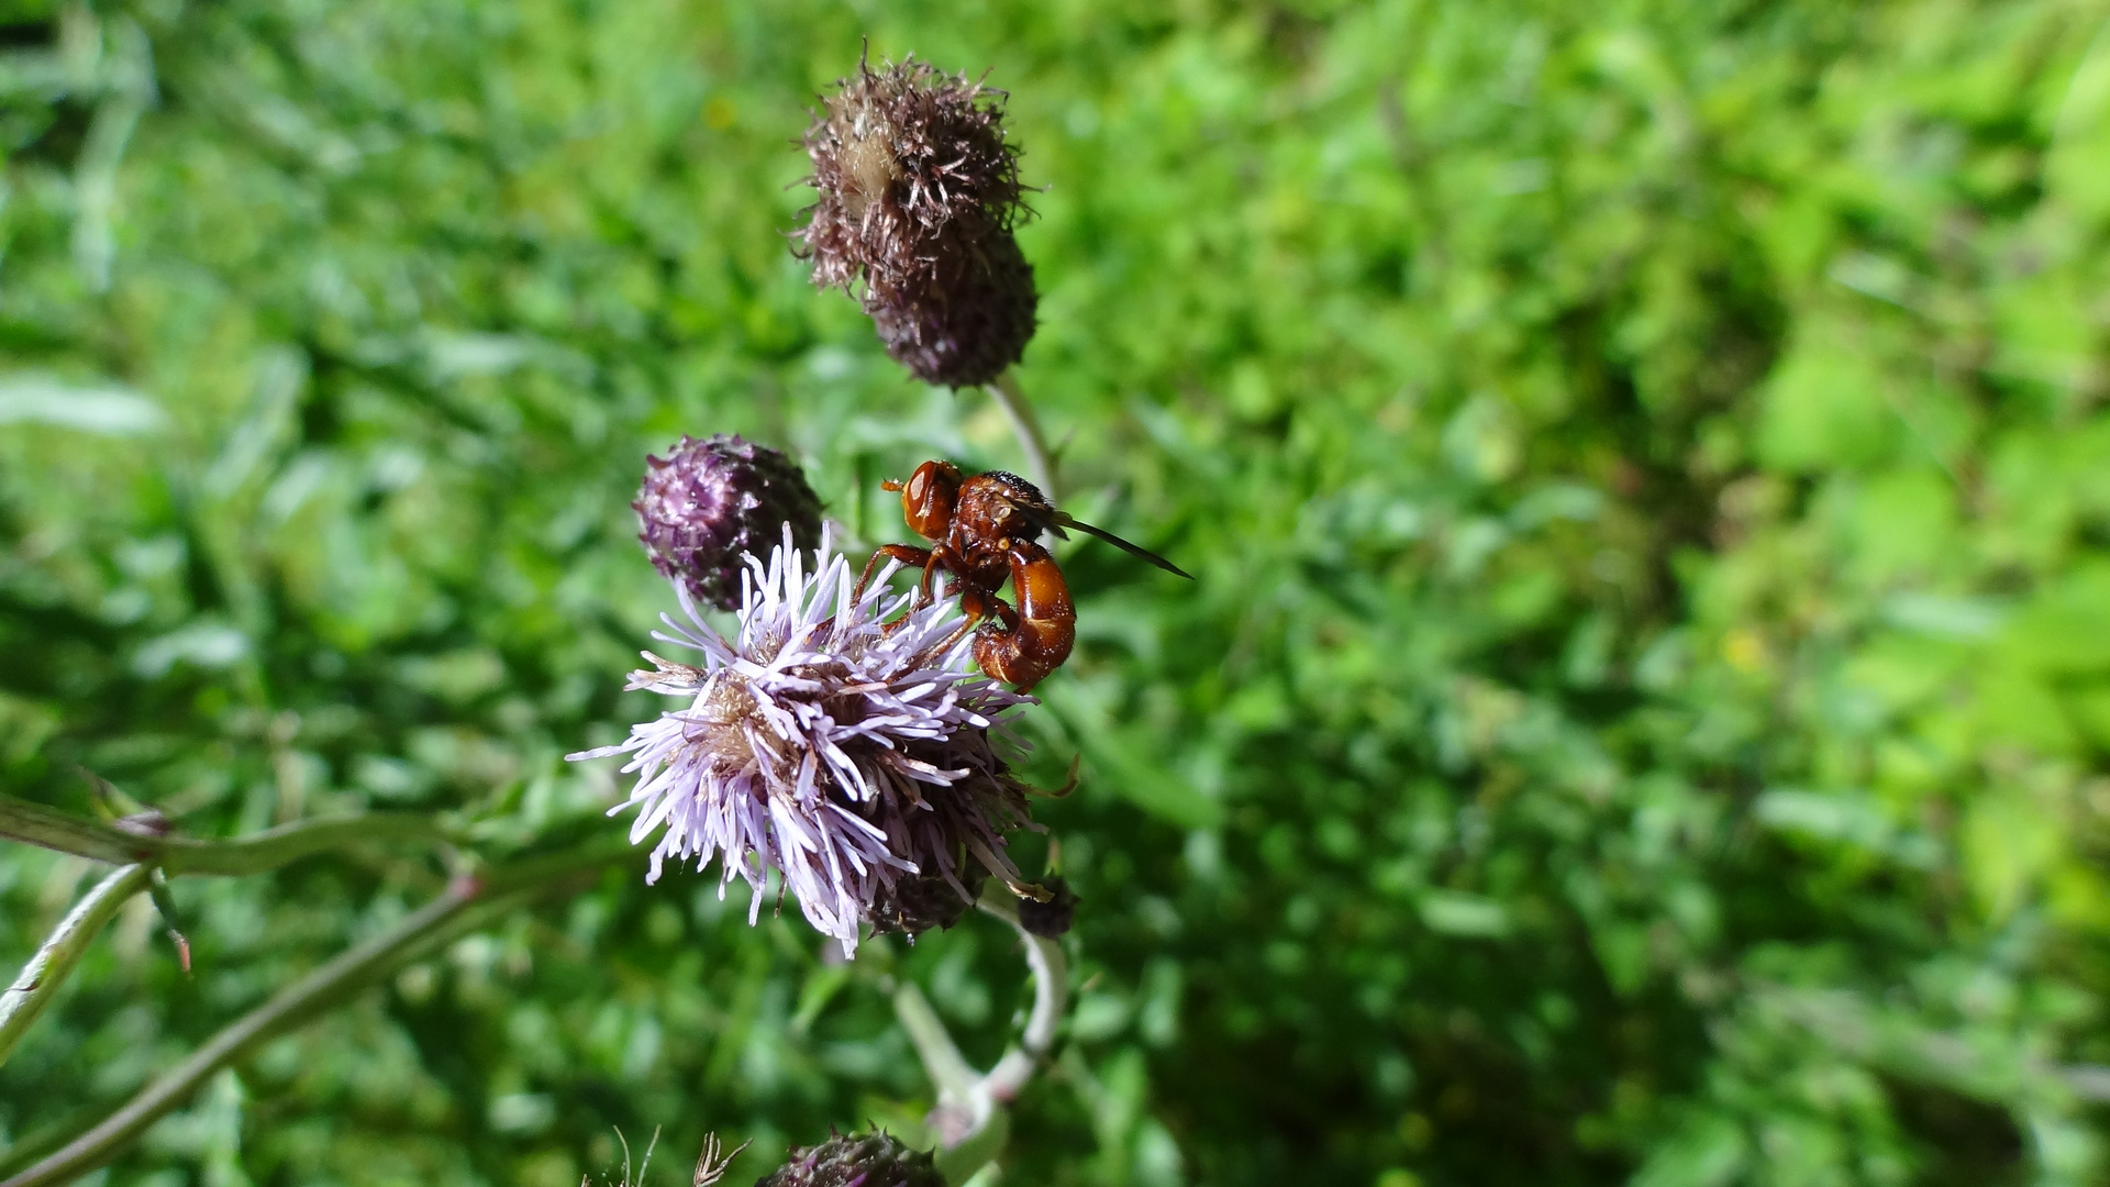
[[[821,536],[821,498],[798,463],[728,433],[705,441],[684,433],[665,458],[648,454],[631,509],[652,566],[720,610],[741,602],[743,553],[762,551],[785,526],[802,547]]]

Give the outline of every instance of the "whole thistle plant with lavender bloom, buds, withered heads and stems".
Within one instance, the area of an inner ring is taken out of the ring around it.
[[[812,279],[852,291],[886,353],[918,378],[985,387],[1053,498],[1053,460],[1006,374],[1034,334],[1036,296],[1032,266],[1013,237],[1025,188],[1019,150],[1002,129],[1002,93],[914,59],[880,70],[861,61],[821,99],[804,148],[819,199],[793,237],[795,251],[812,262]],[[1011,475],[994,477],[1034,490]],[[1104,536],[1059,515],[1038,490],[1025,503],[1025,511],[1049,520],[1021,515],[1004,530],[1004,515],[992,520],[992,547],[1006,555],[1038,549],[1034,539],[1044,530],[1061,534],[1061,526]],[[665,456],[648,456],[633,509],[648,560],[669,581],[682,617],[663,617],[667,632],[654,634],[677,655],[644,653],[650,667],[633,672],[627,686],[677,705],[635,724],[616,746],[570,758],[627,758],[635,781],[614,811],[635,809],[631,845],[656,839],[646,881],[658,881],[669,860],[703,868],[717,858],[720,893],[732,879],[749,883],[751,921],[774,881],[779,898],[789,893],[846,957],[871,934],[914,942],[952,927],[971,906],[1013,925],[1034,974],[1034,1005],[1021,1043],[987,1073],[966,1064],[914,984],[893,991],[897,1016],[937,1086],[931,1130],[945,1149],[960,1149],[990,1130],[1049,1056],[1068,1003],[1068,965],[1055,938],[1070,927],[1076,898],[1059,879],[1028,881],[1004,849],[1009,834],[1036,828],[1030,788],[1011,769],[1023,754],[1011,727],[1036,701],[1002,680],[1032,680],[973,670],[983,655],[977,638],[1017,632],[1038,613],[1028,589],[1015,594],[1017,610],[996,596],[1006,577],[1036,589],[1053,583],[1068,613],[1053,560],[1044,560],[1047,572],[1032,570],[1032,581],[1025,570],[962,568],[973,558],[956,558],[952,570],[933,562],[920,583],[895,589],[895,577],[916,572],[888,560],[903,547],[890,545],[895,551],[876,553],[886,564],[871,581],[871,564],[852,570],[836,549],[798,465],[736,435],[684,435]],[[945,547],[937,541],[920,553],[943,560]],[[964,579],[971,572],[977,583]],[[734,613],[732,629],[722,634],[705,606]],[[610,845],[595,843],[487,866],[466,853],[468,839],[449,824],[384,813],[304,819],[209,843],[173,836],[165,822],[143,828],[112,813],[112,824],[95,824],[0,800],[0,834],[120,866],[0,997],[0,1058],[127,900],[148,891],[171,910],[160,891],[165,874],[260,872],[321,849],[386,841],[430,845],[458,868],[424,908],[238,1018],[108,1119],[8,1181],[21,1187],[106,1166],[257,1043],[452,936],[591,885],[616,858]],[[1004,891],[985,893],[985,883]],[[722,1153],[711,1136],[696,1187],[717,1183],[741,1149],[745,1143]],[[943,1179],[928,1151],[884,1132],[857,1132],[791,1151],[764,1183],[939,1187]]]

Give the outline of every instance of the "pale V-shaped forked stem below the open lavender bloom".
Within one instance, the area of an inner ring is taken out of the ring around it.
[[[1034,1069],[1055,1045],[1055,1029],[1070,1005],[1070,963],[1061,944],[1021,927],[1019,908],[1004,893],[992,889],[977,906],[1015,927],[1025,942],[1025,963],[1034,969],[1034,1010],[1025,1018],[1019,1045],[1006,1050],[987,1073],[977,1075],[960,1056],[945,1022],[924,1001],[922,991],[914,982],[895,991],[895,1016],[901,1018],[901,1029],[909,1033],[924,1071],[937,1084],[937,1109],[931,1111],[931,1126],[943,1149],[956,1149],[983,1132],[996,1115],[996,1107],[1009,1105],[1025,1088]]]

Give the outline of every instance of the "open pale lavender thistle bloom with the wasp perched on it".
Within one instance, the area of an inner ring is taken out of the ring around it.
[[[821,534],[806,568],[791,543],[764,566],[747,558],[741,632],[728,642],[696,613],[682,581],[688,625],[652,638],[703,653],[701,665],[660,659],[629,689],[686,697],[684,710],[631,729],[620,746],[568,758],[631,754],[637,784],[631,843],[665,826],[652,849],[667,858],[724,853],[720,896],[734,877],[753,887],[760,917],[768,870],[806,919],[857,950],[859,925],[920,879],[943,879],[962,902],[981,870],[1023,887],[1002,834],[1028,822],[1019,784],[992,739],[1023,697],[968,672],[973,636],[958,600],[912,610],[886,577],[852,598],[850,564]],[[882,623],[903,615],[893,629]],[[1023,743],[1019,743],[1023,746]]]

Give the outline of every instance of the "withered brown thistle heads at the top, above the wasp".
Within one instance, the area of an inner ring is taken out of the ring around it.
[[[819,201],[795,237],[812,279],[842,291],[863,281],[886,353],[926,382],[990,382],[1034,336],[1002,97],[914,57],[878,74],[859,63],[806,131]]]

